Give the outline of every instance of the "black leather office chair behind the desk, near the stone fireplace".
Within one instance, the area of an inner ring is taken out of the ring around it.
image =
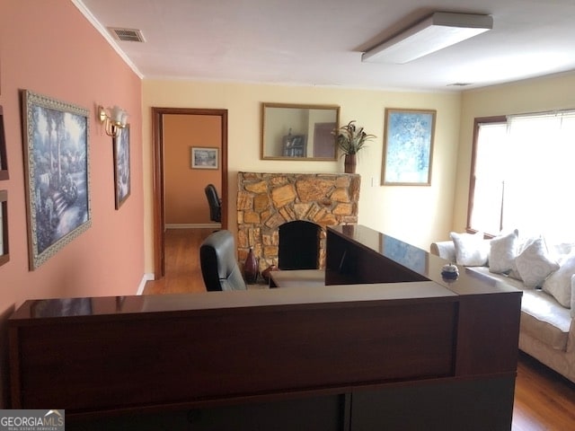
[[[247,288],[235,259],[234,235],[230,231],[212,233],[201,243],[199,264],[208,292]]]

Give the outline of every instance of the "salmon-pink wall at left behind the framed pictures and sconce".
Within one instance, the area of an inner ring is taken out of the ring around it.
[[[89,110],[92,226],[29,269],[20,90]],[[70,1],[0,3],[0,104],[9,180],[10,261],[0,267],[0,311],[26,299],[133,295],[144,275],[141,80]],[[96,107],[130,115],[131,194],[114,207],[112,139]]]

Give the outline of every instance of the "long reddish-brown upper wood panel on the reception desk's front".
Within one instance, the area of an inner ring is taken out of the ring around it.
[[[130,409],[453,373],[454,302],[178,314],[20,328],[14,407]]]

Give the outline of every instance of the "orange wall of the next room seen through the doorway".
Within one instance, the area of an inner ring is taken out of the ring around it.
[[[222,121],[212,115],[164,115],[164,207],[166,224],[210,224],[204,188],[221,196]],[[190,148],[217,148],[218,169],[191,169]]]

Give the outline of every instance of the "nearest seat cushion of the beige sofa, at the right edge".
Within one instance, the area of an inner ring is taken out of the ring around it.
[[[521,299],[521,331],[555,350],[567,348],[570,310],[542,290],[525,290]]]

